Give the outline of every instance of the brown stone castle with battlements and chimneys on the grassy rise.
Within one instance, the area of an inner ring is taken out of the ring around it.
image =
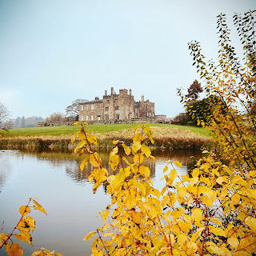
[[[154,103],[144,101],[144,96],[139,102],[134,101],[131,89],[119,90],[116,94],[111,87],[111,94],[100,99],[95,97],[93,101],[79,104],[79,121],[88,122],[110,122],[111,120],[149,119],[154,120]]]

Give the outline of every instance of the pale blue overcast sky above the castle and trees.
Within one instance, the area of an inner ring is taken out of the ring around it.
[[[113,86],[174,117],[176,88],[200,81],[187,43],[216,59],[222,12],[241,54],[232,16],[255,9],[255,0],[0,0],[0,102],[13,118],[46,118]]]

